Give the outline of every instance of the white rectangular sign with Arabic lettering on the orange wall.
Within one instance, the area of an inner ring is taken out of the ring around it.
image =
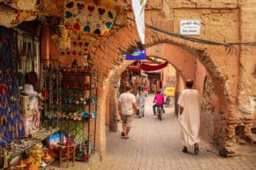
[[[179,33],[181,35],[200,35],[201,20],[180,20]]]

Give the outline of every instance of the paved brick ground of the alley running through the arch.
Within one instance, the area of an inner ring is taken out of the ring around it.
[[[199,155],[189,154],[181,150],[177,116],[173,108],[166,108],[160,122],[153,116],[153,96],[146,98],[145,116],[134,117],[130,138],[120,137],[119,133],[108,132],[107,154],[100,163],[86,167],[86,163],[76,162],[70,169],[82,170],[245,170],[256,169],[256,147],[244,147],[243,152],[231,157],[218,156],[218,150],[212,144],[201,141]]]

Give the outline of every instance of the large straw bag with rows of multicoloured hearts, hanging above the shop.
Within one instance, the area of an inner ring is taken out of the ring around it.
[[[115,15],[115,10],[93,3],[66,0],[64,4],[65,26],[74,32],[107,36],[113,26]]]

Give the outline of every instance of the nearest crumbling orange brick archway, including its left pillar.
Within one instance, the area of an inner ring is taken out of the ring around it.
[[[146,31],[146,43],[149,53],[154,54],[155,49],[158,48],[158,45],[164,44],[164,46],[168,46],[172,48],[176,54],[180,54],[179,57],[181,60],[177,62],[175,58],[171,56],[159,56],[160,58],[166,59],[172,65],[175,65],[177,71],[180,71],[184,78],[191,77],[191,71],[189,72],[187,68],[195,68],[195,60],[198,59],[202,65],[205,66],[209,76],[212,79],[213,87],[216,89],[216,94],[218,96],[218,102],[221,103],[219,109],[224,113],[224,116],[229,116],[232,114],[232,111],[229,111],[226,107],[234,106],[235,104],[231,101],[230,92],[227,91],[229,88],[225,88],[226,80],[221,71],[219,71],[218,65],[215,63],[215,60],[211,57],[210,53],[206,50],[205,46],[196,44],[195,42],[186,42],[184,40],[178,39],[176,37],[169,37],[160,32],[155,32],[151,30]],[[111,37],[102,38],[97,41],[95,44],[95,48],[91,48],[90,54],[93,63],[96,65],[96,69],[99,73],[99,79],[102,83],[101,88],[99,89],[100,93],[98,95],[99,106],[98,112],[100,114],[100,121],[97,123],[101,127],[98,133],[102,133],[102,140],[105,141],[105,119],[106,119],[106,105],[111,103],[111,107],[109,107],[109,111],[112,113],[116,112],[116,94],[113,93],[112,98],[110,98],[108,92],[115,91],[116,83],[118,82],[118,77],[122,71],[125,71],[125,68],[131,64],[131,61],[125,61],[123,55],[126,54],[131,48],[137,46],[137,42],[139,42],[137,36],[136,26],[133,22],[127,21],[127,25],[113,33]],[[155,49],[154,49],[155,48]],[[224,50],[224,49],[220,49]],[[186,65],[181,65],[180,63],[186,62]],[[195,75],[195,74],[194,74]],[[111,109],[110,109],[111,108]],[[233,123],[233,124],[232,124]],[[227,125],[232,126],[227,126]],[[224,120],[222,124],[227,131],[222,132],[219,135],[218,146],[224,152],[227,150],[226,141],[228,139],[232,139],[235,134],[235,128],[237,122],[228,122],[228,120]],[[102,143],[102,142],[101,142]],[[104,152],[106,149],[105,144],[101,144],[101,149]]]

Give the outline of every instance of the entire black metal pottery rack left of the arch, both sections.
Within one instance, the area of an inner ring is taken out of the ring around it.
[[[55,59],[43,61],[43,124],[59,127],[78,144],[77,160],[89,161],[96,144],[96,73],[90,66],[66,68]]]

